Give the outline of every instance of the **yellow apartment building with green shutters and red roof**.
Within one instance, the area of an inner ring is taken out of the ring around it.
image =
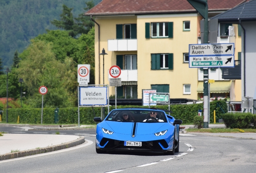
[[[243,1],[208,0],[209,18]],[[117,65],[122,80],[122,87],[117,87],[119,98],[141,99],[143,89],[170,93],[170,98],[198,99],[202,95],[201,71],[188,64],[188,45],[200,44],[202,16],[187,0],[103,0],[85,16],[95,22],[95,84],[109,84],[109,68]],[[228,35],[225,42],[235,41],[237,59],[241,38],[238,27],[233,29],[235,39]],[[99,55],[103,48],[107,53],[104,62],[103,55]],[[210,79],[213,76],[215,81],[224,81],[220,68],[212,71],[209,70]],[[228,81],[228,90],[222,88],[215,96],[231,94],[233,101],[241,101],[240,80]],[[115,87],[109,88],[109,94],[115,95]]]

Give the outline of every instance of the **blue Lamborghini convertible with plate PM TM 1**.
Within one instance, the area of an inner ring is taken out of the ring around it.
[[[102,121],[95,117],[96,152],[156,151],[173,155],[179,152],[182,120],[162,109],[114,109]]]

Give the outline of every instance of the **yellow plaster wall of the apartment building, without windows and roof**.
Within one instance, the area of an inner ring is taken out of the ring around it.
[[[201,16],[198,14],[169,14],[142,16],[101,16],[96,17],[100,25],[100,48],[98,48],[98,26],[95,24],[95,84],[103,84],[103,55],[105,48],[107,55],[104,61],[104,82],[108,82],[108,69],[116,65],[117,54],[137,54],[138,67],[138,99],[142,98],[142,89],[151,89],[151,84],[169,84],[170,98],[198,99],[197,68],[189,68],[183,62],[183,53],[188,53],[189,44],[197,44],[200,33]],[[183,21],[190,21],[190,31],[183,31]],[[173,22],[173,38],[145,38],[146,22]],[[137,24],[137,51],[108,51],[107,40],[116,39],[116,24]],[[237,25],[235,26],[237,28]],[[235,57],[241,52],[241,37],[236,29]],[[100,50],[100,52],[99,52]],[[151,70],[151,54],[173,53],[173,70]],[[237,58],[236,58],[237,59]],[[240,84],[239,84],[240,83]],[[183,94],[183,84],[191,84],[191,94]],[[109,87],[109,95],[115,94],[115,87]],[[237,94],[238,92],[238,94]],[[236,101],[241,101],[241,81],[235,82]]]

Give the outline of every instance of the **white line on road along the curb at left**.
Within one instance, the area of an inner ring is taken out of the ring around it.
[[[29,159],[29,158],[32,158],[32,157],[40,157],[40,156],[51,155],[51,154],[56,154],[56,153],[62,153],[62,152],[71,151],[71,150],[74,150],[74,149],[79,149],[79,148],[82,148],[82,147],[86,147],[86,146],[91,145],[93,143],[93,141],[90,141],[90,140],[87,140],[87,139],[85,139],[85,141],[87,141],[86,144],[70,147],[70,148],[67,148],[67,149],[61,149],[61,150],[58,150],[58,151],[51,151],[49,153],[41,153],[41,154],[31,155],[31,156],[26,156],[26,157],[19,157],[19,158],[16,158],[16,159],[3,160],[3,161],[0,161],[0,163],[23,160],[23,159]]]

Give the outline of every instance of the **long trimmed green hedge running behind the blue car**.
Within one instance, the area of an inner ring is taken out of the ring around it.
[[[213,110],[216,110],[216,119],[221,119],[223,112],[220,107],[227,112],[227,104],[225,101],[213,101],[210,103],[210,123],[213,123]],[[117,106],[120,108],[129,108],[129,107],[145,107],[146,106]],[[157,105],[154,106],[159,109],[168,110],[168,105]],[[110,106],[109,111],[115,109],[115,106]],[[170,105],[170,110],[173,111],[171,116],[175,119],[181,119],[183,123],[193,123],[194,117],[198,115],[198,110],[203,110],[203,104],[191,104],[191,105]],[[43,108],[43,123],[52,124],[54,123],[54,108]],[[59,109],[59,124],[77,124],[78,123],[78,108],[60,108]],[[107,115],[107,107],[105,108],[105,115]],[[17,123],[18,116],[19,123],[41,123],[41,109],[27,109],[27,108],[16,108],[8,109],[8,122]],[[80,107],[80,123],[81,124],[96,124],[93,121],[93,117],[101,116],[100,107]],[[2,121],[6,121],[6,110],[4,110]]]

